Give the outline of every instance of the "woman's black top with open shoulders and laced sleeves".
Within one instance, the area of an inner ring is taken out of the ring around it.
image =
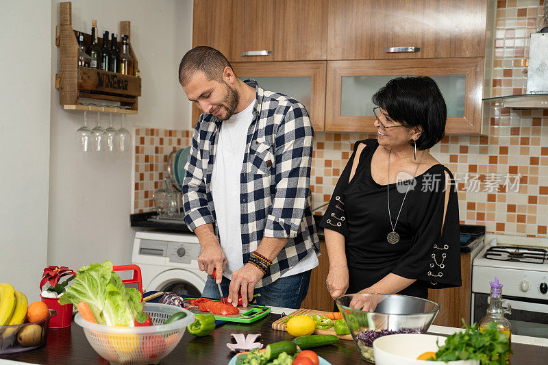
[[[366,144],[350,183],[349,175],[360,143]],[[371,158],[377,140],[356,142],[353,154],[340,175],[320,226],[345,236],[349,266],[349,289],[358,292],[394,273],[416,281],[399,294],[426,298],[428,288],[460,286],[460,231],[458,199],[453,175],[442,164],[414,177],[395,231],[399,242],[390,244],[386,236],[392,227],[388,217],[386,185],[371,176]],[[451,191],[445,206],[445,172]],[[407,185],[390,184],[390,212],[393,223],[401,207]],[[443,225],[443,229],[442,229]]]

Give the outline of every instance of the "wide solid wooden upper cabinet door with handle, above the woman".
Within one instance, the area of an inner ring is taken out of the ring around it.
[[[329,0],[327,60],[484,57],[487,0]]]

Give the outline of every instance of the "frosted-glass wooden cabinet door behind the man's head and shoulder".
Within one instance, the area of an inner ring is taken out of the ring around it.
[[[302,103],[314,131],[323,131],[325,121],[325,61],[303,62],[234,62],[240,79],[254,79],[264,89],[292,97]],[[193,107],[195,125],[201,110]]]

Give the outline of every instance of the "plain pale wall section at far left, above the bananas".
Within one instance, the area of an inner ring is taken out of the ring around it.
[[[51,4],[0,12],[0,282],[38,301],[47,260]]]

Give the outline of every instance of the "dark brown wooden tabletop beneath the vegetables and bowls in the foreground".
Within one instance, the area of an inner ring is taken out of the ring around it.
[[[160,364],[227,364],[233,356],[226,346],[226,343],[230,342],[230,333],[261,333],[264,344],[291,340],[292,336],[287,332],[271,329],[273,321],[280,317],[279,314],[269,314],[250,325],[227,323],[217,328],[210,336],[203,338],[195,338],[186,332],[177,347],[164,357]],[[512,349],[512,365],[546,364],[548,347],[512,344]],[[362,360],[353,341],[340,340],[336,344],[319,347],[314,351],[334,365],[369,364]],[[86,340],[84,330],[75,323],[66,329],[50,330],[45,347],[16,355],[0,356],[1,359],[44,365],[108,364],[92,349]]]

